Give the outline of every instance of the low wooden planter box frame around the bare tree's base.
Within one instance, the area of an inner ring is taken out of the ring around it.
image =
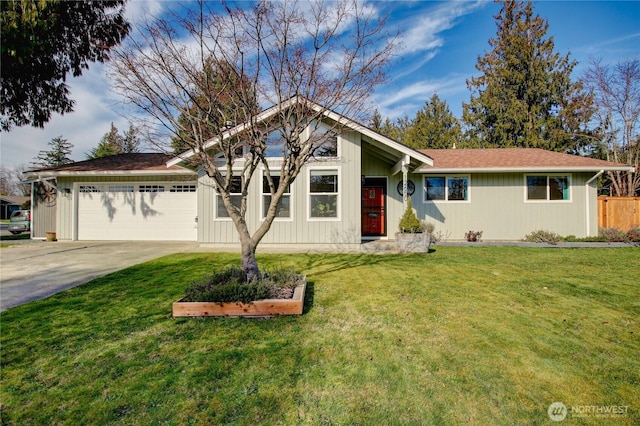
[[[272,317],[300,315],[307,280],[295,288],[291,299],[263,299],[251,303],[181,302],[173,304],[173,317]]]

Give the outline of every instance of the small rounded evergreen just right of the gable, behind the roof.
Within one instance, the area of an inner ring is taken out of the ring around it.
[[[404,138],[404,144],[415,149],[460,147],[461,141],[458,119],[437,94],[416,112]]]

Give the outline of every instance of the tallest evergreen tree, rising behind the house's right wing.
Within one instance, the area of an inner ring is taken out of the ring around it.
[[[545,38],[549,25],[533,15],[531,2],[506,0],[495,19],[492,50],[478,57],[481,75],[467,80],[468,136],[486,147],[577,150],[591,97],[571,82],[576,62],[554,52],[553,38]]]

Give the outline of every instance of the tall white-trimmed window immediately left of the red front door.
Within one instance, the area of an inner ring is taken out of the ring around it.
[[[338,170],[309,171],[309,217],[338,218]]]

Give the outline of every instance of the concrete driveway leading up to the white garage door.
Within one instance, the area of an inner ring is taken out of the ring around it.
[[[0,311],[167,254],[195,242],[40,242],[0,249]]]

